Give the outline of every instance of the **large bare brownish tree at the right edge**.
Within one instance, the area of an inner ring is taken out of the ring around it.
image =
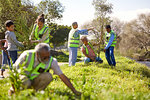
[[[141,14],[137,19],[126,23],[121,34],[119,49],[122,53],[134,57],[149,54],[150,57],[150,13]]]

